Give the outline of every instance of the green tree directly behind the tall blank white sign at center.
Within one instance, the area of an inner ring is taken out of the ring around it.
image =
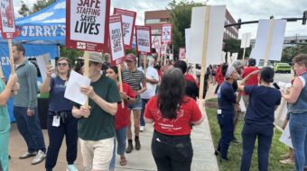
[[[172,23],[172,44],[174,48],[174,58],[178,58],[179,48],[185,47],[185,29],[191,27],[191,9],[195,6],[203,6],[205,4],[189,2],[181,0],[179,3],[172,0],[168,4],[167,10],[171,14]]]

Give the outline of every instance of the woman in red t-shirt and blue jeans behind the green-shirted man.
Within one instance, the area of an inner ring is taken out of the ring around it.
[[[116,66],[108,67],[106,76],[114,79],[116,81],[116,85],[118,91],[120,91],[120,85],[118,82],[118,70]],[[131,89],[129,85],[123,83],[123,92],[119,92],[122,100],[124,103],[124,107],[122,107],[121,103],[117,104],[117,112],[115,115],[115,122],[116,122],[116,139],[117,139],[117,154],[120,155],[120,162],[121,166],[126,165],[126,157],[125,157],[125,150],[126,150],[126,131],[128,128],[128,124],[130,122],[129,119],[129,110],[127,108],[127,103],[135,103],[135,92]],[[116,146],[115,146],[116,147]],[[114,148],[113,157],[110,164],[110,170],[115,168],[115,159],[116,159],[116,148]]]

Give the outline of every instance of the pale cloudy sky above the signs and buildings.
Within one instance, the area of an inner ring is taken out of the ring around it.
[[[32,7],[36,0],[23,0],[25,4]],[[180,0],[178,0],[179,2]],[[190,1],[190,0],[186,0]],[[15,13],[20,9],[21,0],[14,0]],[[170,0],[111,0],[111,13],[113,8],[122,8],[137,12],[136,24],[144,24],[144,12],[163,10],[168,8]],[[194,2],[204,3],[204,0],[194,0]],[[307,11],[307,0],[208,0],[207,4],[226,4],[228,11],[237,21],[255,21],[259,19],[269,19],[274,15],[274,19],[281,18],[302,18],[302,12]],[[257,24],[242,25],[239,30],[239,38],[245,32],[251,32],[252,38],[256,38]],[[287,23],[285,36],[307,36],[307,24],[302,25],[302,21]]]

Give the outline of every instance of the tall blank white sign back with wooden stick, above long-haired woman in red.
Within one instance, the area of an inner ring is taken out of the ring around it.
[[[209,12],[209,34],[206,66],[219,64],[222,50],[226,5],[212,5]],[[200,64],[204,51],[206,7],[193,7],[191,14],[191,49],[188,49],[188,61]],[[190,52],[189,52],[190,51]]]

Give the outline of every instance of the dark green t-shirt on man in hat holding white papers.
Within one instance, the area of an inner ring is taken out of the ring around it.
[[[108,103],[121,102],[116,82],[107,76],[101,76],[97,82],[90,84],[98,96]],[[102,110],[97,103],[88,99],[91,112],[88,118],[81,118],[78,122],[78,134],[80,139],[100,140],[115,137],[115,116]],[[79,107],[79,105],[76,105]]]

